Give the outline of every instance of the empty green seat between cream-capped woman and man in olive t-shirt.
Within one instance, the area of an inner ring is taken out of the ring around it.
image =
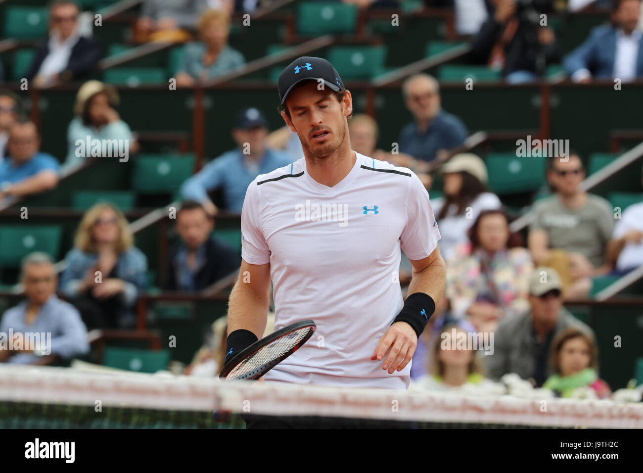
[[[489,189],[496,194],[537,190],[545,182],[544,156],[518,158],[515,153],[491,153],[485,163]]]

